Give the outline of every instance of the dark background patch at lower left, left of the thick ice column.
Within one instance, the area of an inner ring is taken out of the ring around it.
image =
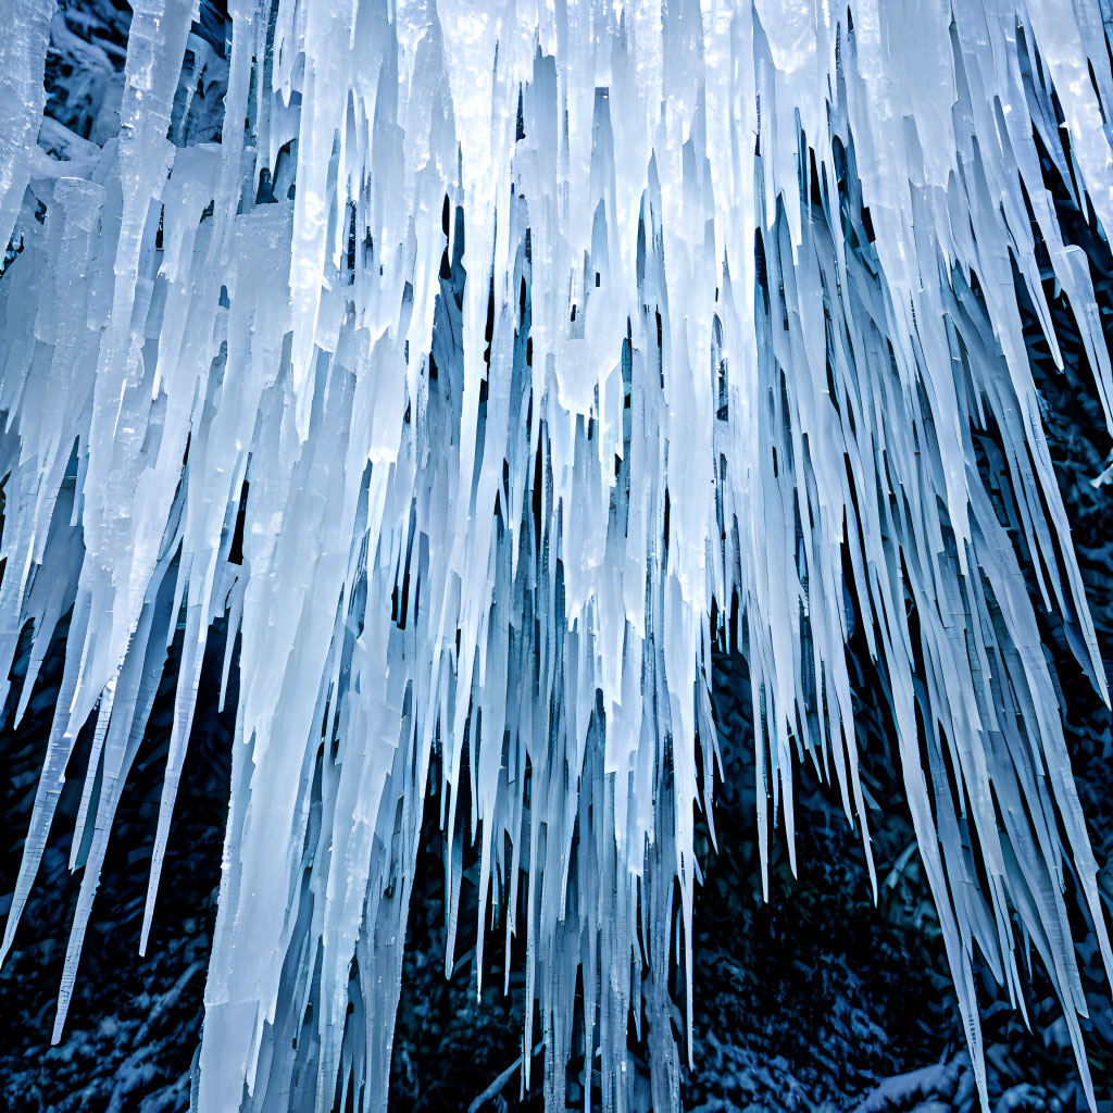
[[[26,661],[21,654],[17,673]],[[79,873],[70,873],[69,858],[80,801],[77,770],[88,761],[90,739],[78,739],[26,922],[0,978],[4,1109],[156,1113],[189,1106],[189,1070],[200,1031],[220,878],[232,725],[216,712],[219,672],[209,668],[203,677],[204,713],[191,740],[196,749],[167,851],[170,884],[160,894],[142,957],[139,927],[170,735],[171,663],[173,654],[135,777],[121,801],[66,1032],[52,1047],[50,1032],[80,880]],[[23,723],[0,735],[0,765],[11,772],[3,781],[2,801],[7,841],[0,888],[7,894],[6,905],[11,902],[60,666],[60,652],[52,652]],[[11,711],[9,707],[9,725]]]

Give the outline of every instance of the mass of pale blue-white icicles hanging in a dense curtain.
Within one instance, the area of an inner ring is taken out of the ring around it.
[[[86,136],[53,8],[4,6],[0,676],[30,627],[21,715],[71,612],[3,939],[91,730],[56,1037],[178,633],[146,946],[225,615],[203,1113],[384,1107],[426,807],[450,966],[470,840],[480,951],[525,940],[549,1107],[578,1007],[604,1106],[676,1107],[712,643],[762,838],[811,760],[868,846],[858,631],[976,1068],[975,949],[1023,1002],[1034,948],[1085,1074],[1080,923],[1113,954],[1040,609],[1105,679],[1018,299],[1057,358],[1065,297],[1109,417],[1050,195],[1113,227],[1105,6],[135,0]]]

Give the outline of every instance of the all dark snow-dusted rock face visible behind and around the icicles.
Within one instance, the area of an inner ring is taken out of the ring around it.
[[[219,46],[223,19],[219,6],[206,0],[195,33]],[[124,0],[63,3],[56,18],[47,67],[48,114],[82,138],[101,142],[112,134],[128,21]],[[209,76],[203,101],[206,92],[207,110],[195,106],[191,115],[177,119],[183,134],[210,135],[220,97],[218,73]],[[1072,207],[1064,190],[1055,189],[1054,181],[1048,186],[1063,227],[1091,259],[1109,339],[1113,256],[1104,236]],[[1022,309],[1073,541],[1106,673],[1113,679],[1113,486],[1091,483],[1106,464],[1110,443],[1075,324],[1062,297],[1048,296],[1064,349],[1062,373],[1037,338],[1030,307]],[[1068,743],[1091,838],[1104,864],[1103,893],[1106,905],[1113,906],[1109,712],[1068,663],[1062,622],[1050,614],[1042,621],[1045,644],[1060,667]],[[0,913],[10,905],[57,697],[65,633],[58,632],[30,711],[18,728],[12,712],[27,647],[13,670],[16,684],[0,732],[0,808],[6,817]],[[158,1113],[189,1107],[233,737],[230,717],[217,710],[224,650],[223,637],[210,640],[147,955],[136,952],[169,737],[174,653],[120,805],[69,1022],[61,1043],[51,1047],[55,998],[77,897],[69,870],[71,826],[80,798],[77,778],[88,760],[90,739],[78,740],[32,903],[0,974],[4,1109]],[[798,876],[791,876],[784,841],[776,840],[769,899],[764,902],[746,666],[733,658],[718,662],[716,711],[723,776],[716,792],[717,848],[706,824],[702,828],[706,876],[697,904],[695,1042],[692,1066],[683,1077],[686,1109],[774,1113],[846,1110],[860,1103],[869,1113],[966,1113],[976,1105],[938,925],[902,799],[898,764],[887,741],[884,699],[864,654],[857,680],[867,789],[874,800],[884,801],[874,831],[878,902],[875,905],[870,896],[859,840],[814,769],[804,770],[799,781]],[[227,705],[235,706],[234,691]],[[474,992],[474,937],[457,942],[453,974],[444,976],[443,870],[434,821],[426,824],[425,835],[394,1045],[393,1106],[423,1113],[465,1110],[486,1094],[484,1109],[540,1109],[540,1055],[534,1053],[529,1087],[514,1070],[521,1055],[524,987],[512,973],[508,992],[502,992],[501,929],[495,926],[487,947],[495,957],[482,1002],[476,1003]],[[474,871],[474,863],[472,867]],[[465,884],[472,884],[466,870]],[[473,898],[474,893],[473,885]],[[474,933],[474,914],[469,913],[465,892],[461,922],[473,925]],[[1113,1097],[1113,1006],[1092,940],[1082,949],[1081,973],[1091,1009],[1091,1072]],[[674,991],[674,998],[682,1001],[682,987]],[[994,1109],[1083,1109],[1070,1044],[1038,966],[1026,999],[1031,1031],[988,976],[981,993]],[[682,1032],[679,1011],[676,1021]],[[636,1043],[637,1036],[631,1040]],[[570,1102],[582,1102],[585,1087],[595,1090],[581,1063],[570,1068]],[[595,1091],[592,1103],[598,1100]]]

